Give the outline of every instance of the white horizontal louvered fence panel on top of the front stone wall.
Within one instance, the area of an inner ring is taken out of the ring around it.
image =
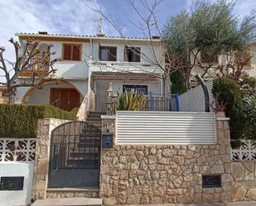
[[[118,144],[215,144],[214,113],[117,111]]]

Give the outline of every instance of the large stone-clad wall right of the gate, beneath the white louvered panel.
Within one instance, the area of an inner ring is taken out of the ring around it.
[[[114,123],[108,124],[114,127]],[[114,145],[103,149],[100,196],[104,204],[231,201],[229,125],[223,118],[216,121],[216,127],[216,145]],[[202,189],[202,174],[221,175],[222,187]]]

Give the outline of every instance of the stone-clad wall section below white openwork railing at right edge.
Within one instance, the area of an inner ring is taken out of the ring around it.
[[[231,162],[232,198],[256,200],[256,162],[253,160]]]

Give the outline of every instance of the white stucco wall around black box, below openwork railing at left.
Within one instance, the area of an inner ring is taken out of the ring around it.
[[[24,176],[23,190],[0,190],[0,205],[26,205],[31,202],[34,163],[1,162],[0,177]]]

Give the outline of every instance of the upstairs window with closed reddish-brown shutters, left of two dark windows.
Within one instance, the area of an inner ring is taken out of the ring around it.
[[[81,60],[81,45],[63,45],[63,60]]]

